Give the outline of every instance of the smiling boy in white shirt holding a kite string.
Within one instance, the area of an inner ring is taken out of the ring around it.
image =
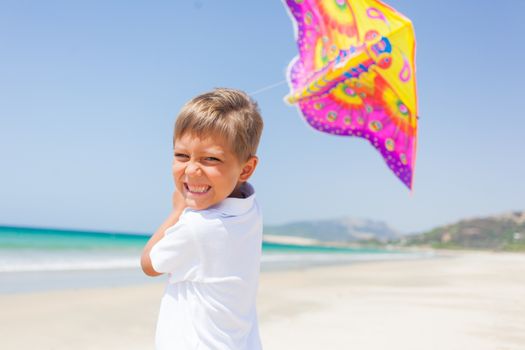
[[[173,210],[141,258],[147,275],[169,274],[157,350],[261,349],[262,216],[247,180],[262,128],[257,104],[233,89],[195,97],[177,118]]]

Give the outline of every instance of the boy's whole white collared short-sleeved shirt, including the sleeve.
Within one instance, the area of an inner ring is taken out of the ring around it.
[[[253,187],[205,210],[185,209],[153,246],[151,263],[169,273],[157,350],[260,350],[256,296],[262,215]]]

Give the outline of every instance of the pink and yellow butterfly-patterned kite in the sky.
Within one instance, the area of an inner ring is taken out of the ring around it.
[[[317,130],[367,139],[412,189],[418,112],[410,20],[375,0],[286,3],[299,46],[287,101]]]

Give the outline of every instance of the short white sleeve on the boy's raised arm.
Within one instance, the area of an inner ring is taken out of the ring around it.
[[[199,250],[191,225],[181,216],[166,230],[165,236],[150,251],[151,265],[159,273],[170,273],[170,281],[195,279]]]

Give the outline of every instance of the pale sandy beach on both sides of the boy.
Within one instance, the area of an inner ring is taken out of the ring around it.
[[[264,272],[264,348],[525,349],[525,254],[441,255]],[[153,349],[163,288],[0,295],[0,348]]]

